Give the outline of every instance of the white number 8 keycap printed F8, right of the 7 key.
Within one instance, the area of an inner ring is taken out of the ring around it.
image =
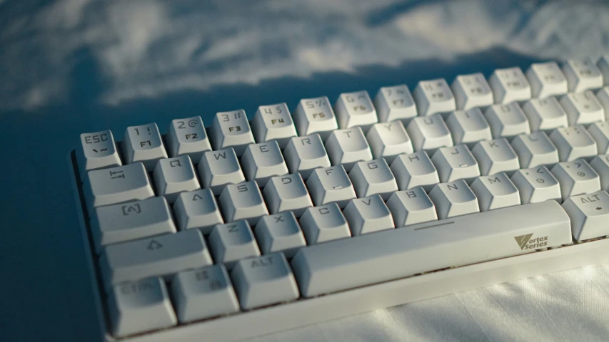
[[[420,81],[413,95],[421,116],[448,113],[457,109],[451,88],[444,78]]]

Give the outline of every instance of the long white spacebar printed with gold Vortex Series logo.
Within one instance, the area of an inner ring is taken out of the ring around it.
[[[291,266],[311,297],[570,242],[568,215],[547,201],[305,247]]]

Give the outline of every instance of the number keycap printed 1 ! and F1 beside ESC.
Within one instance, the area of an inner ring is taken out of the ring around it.
[[[154,170],[159,159],[167,157],[156,123],[129,126],[121,146],[125,164],[142,162],[149,172]]]

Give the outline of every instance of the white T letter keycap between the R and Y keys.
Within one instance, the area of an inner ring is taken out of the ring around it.
[[[333,131],[326,140],[326,151],[332,165],[343,165],[347,171],[356,162],[372,160],[372,151],[359,127]]]

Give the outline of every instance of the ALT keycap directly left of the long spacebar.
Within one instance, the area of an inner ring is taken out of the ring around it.
[[[298,299],[296,279],[281,253],[243,259],[237,262],[231,278],[241,303],[241,309]]]

